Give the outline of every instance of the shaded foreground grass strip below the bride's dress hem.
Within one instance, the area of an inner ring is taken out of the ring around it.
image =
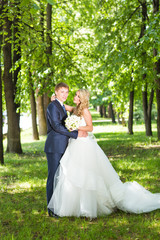
[[[159,211],[137,215],[116,210],[109,216],[92,220],[84,217],[54,219],[47,216],[44,187],[22,193],[3,193],[0,199],[3,203],[1,239],[127,240],[158,239],[159,236],[159,225],[153,224]]]

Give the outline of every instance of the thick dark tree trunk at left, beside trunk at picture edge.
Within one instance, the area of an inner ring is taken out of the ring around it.
[[[7,4],[7,1],[6,1]],[[12,74],[10,69],[12,67],[12,55],[11,55],[11,22],[8,17],[5,17],[4,24],[4,90],[8,117],[8,134],[7,134],[7,151],[22,153],[20,142],[20,127],[19,127],[19,114],[17,114],[15,104],[15,82],[12,80]]]

